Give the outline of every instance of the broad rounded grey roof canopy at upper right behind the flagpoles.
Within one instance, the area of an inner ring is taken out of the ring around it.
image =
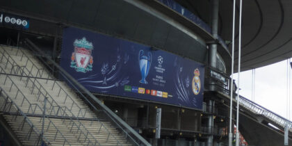
[[[205,22],[209,22],[210,1],[184,0],[180,3]],[[219,3],[218,33],[224,40],[231,41],[233,0],[220,0]],[[292,1],[289,0],[243,1],[241,70],[263,67],[291,58],[291,8]],[[236,1],[237,22],[238,15],[239,1]],[[236,25],[238,26],[238,23]],[[238,30],[238,27],[236,29]],[[237,42],[238,31],[236,31],[236,62],[238,61]],[[229,44],[229,50],[231,49],[232,44]]]

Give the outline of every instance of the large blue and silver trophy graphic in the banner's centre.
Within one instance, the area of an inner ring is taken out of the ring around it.
[[[148,52],[148,56],[143,55],[144,51],[139,51],[139,66],[140,66],[140,72],[142,79],[140,80],[140,83],[148,83],[146,81],[146,77],[149,73],[150,66],[151,66],[151,60],[152,60],[152,54]]]

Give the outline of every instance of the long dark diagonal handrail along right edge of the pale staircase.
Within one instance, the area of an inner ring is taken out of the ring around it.
[[[42,50],[39,49],[35,44],[33,44],[33,42],[31,42],[31,40],[29,40],[28,38],[25,39],[24,43],[29,47],[29,49],[31,49],[31,51],[38,52],[38,54],[42,54],[42,56],[44,56],[44,53],[42,52]],[[74,79],[62,67],[60,67],[57,63],[55,63],[54,60],[51,60],[51,58],[49,58],[48,56],[44,56],[44,57],[47,60],[49,60],[49,62],[51,62],[54,65],[54,67],[56,67],[58,69],[58,72],[60,73],[60,75],[62,75],[65,78],[65,80],[67,80],[67,82],[70,83],[72,85],[72,87],[77,92],[79,92],[81,97],[83,97],[83,99],[85,99],[89,103],[89,105],[92,106],[93,109],[97,110],[97,108],[83,94],[88,95],[88,97],[90,97],[90,99],[92,99],[95,102],[95,104],[97,104],[98,106],[103,108],[106,115],[108,115],[108,117],[111,120],[113,120],[113,122],[115,122],[117,124],[117,126],[120,127],[120,129],[122,129],[124,134],[128,138],[130,138],[133,143],[135,143],[136,145],[147,145],[147,146],[150,145],[147,142],[147,140],[145,140],[142,136],[140,136],[139,133],[137,133],[134,129],[132,129],[120,117],[115,115],[115,113],[113,113],[113,111],[111,111],[111,109],[109,109],[107,106],[102,104],[102,102],[99,99],[97,99],[97,97],[95,97],[95,95],[92,95],[92,93],[90,91],[88,91],[86,88],[84,88],[78,81],[76,81],[76,79]],[[124,127],[124,128],[122,128],[122,127]],[[132,136],[130,136],[129,134],[131,134]],[[136,141],[139,141],[139,143],[137,143]]]

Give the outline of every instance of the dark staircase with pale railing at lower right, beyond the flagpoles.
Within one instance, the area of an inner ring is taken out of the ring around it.
[[[292,122],[290,120],[245,97],[240,97],[239,103],[239,130],[249,145],[283,145],[285,129],[288,129],[289,145],[292,145]]]

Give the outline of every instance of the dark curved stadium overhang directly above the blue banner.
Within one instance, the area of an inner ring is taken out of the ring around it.
[[[212,35],[202,29],[190,29],[190,26],[173,21],[171,17],[166,17],[162,13],[156,16],[155,9],[152,12],[146,11],[128,1],[3,0],[0,5],[1,11],[30,17],[29,29],[33,32],[36,28],[51,28],[40,20],[76,26],[146,44],[154,50],[163,49],[199,63],[206,63],[207,60],[204,40],[213,39]],[[195,35],[194,31],[202,31],[204,35],[200,37],[201,35]],[[51,30],[51,33],[54,32],[54,29]],[[47,33],[50,33],[49,30]]]

